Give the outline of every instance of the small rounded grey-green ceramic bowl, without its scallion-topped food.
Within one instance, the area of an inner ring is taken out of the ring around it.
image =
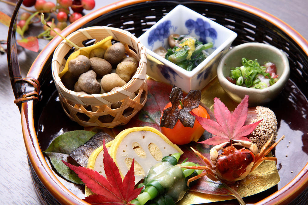
[[[241,66],[241,59],[257,59],[260,65],[270,61],[276,65],[278,81],[267,88],[255,89],[235,85],[227,80],[230,68]],[[217,77],[221,87],[236,102],[241,102],[245,95],[249,95],[249,106],[266,104],[272,101],[282,91],[290,75],[290,66],[286,54],[278,48],[264,43],[244,43],[230,49],[221,58],[217,67]]]

